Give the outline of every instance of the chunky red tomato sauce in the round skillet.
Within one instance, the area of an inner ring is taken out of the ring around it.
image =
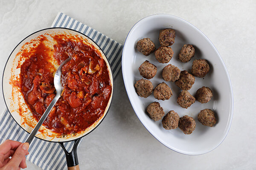
[[[27,58],[20,67],[21,91],[33,116],[39,120],[56,94],[53,83],[56,68],[49,54],[53,54],[59,65],[72,57],[62,68],[62,96],[44,126],[55,133],[77,133],[96,122],[108,105],[112,91],[108,68],[94,47],[65,35],[53,38],[57,41],[53,51],[42,43],[46,38],[41,36],[39,45],[22,54]]]

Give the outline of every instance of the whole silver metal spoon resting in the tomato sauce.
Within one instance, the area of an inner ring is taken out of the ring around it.
[[[55,105],[55,103],[58,101],[58,99],[61,96],[61,92],[62,92],[62,87],[61,87],[61,68],[70,59],[71,59],[71,57],[69,57],[64,62],[62,62],[61,65],[58,67],[55,75],[54,75],[54,80],[53,81],[54,81],[54,86],[55,86],[55,89],[56,89],[56,95],[52,99],[52,102],[49,104],[48,108],[46,109],[46,111],[44,112],[44,114],[42,115],[42,117],[40,118],[40,120],[38,121],[38,123],[36,124],[34,129],[32,130],[32,132],[30,133],[29,137],[26,139],[26,142],[29,143],[29,144],[32,142],[32,140],[34,139],[34,137],[35,137],[36,133],[38,132],[39,128],[44,123],[44,120],[47,118],[47,116],[50,113],[50,111],[52,110],[53,106]]]

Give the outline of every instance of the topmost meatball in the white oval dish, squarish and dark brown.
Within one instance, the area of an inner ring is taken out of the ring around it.
[[[174,43],[175,31],[173,29],[163,29],[159,32],[159,42],[162,46],[171,46]]]

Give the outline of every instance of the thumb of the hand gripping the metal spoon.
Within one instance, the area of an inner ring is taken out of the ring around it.
[[[28,152],[29,144],[23,143],[15,150],[15,153],[12,156],[12,159],[8,162],[11,167],[19,167],[20,162],[25,157],[26,153]]]

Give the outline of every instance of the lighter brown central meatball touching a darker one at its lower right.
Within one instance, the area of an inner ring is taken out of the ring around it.
[[[163,68],[162,77],[166,82],[175,82],[180,77],[180,69],[174,65],[166,65]]]

